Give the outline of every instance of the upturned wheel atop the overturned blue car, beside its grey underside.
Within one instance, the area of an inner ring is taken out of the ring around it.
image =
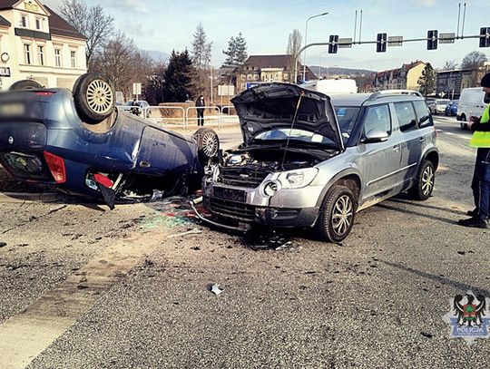
[[[113,83],[102,73],[85,73],[73,85],[73,100],[83,122],[99,123],[115,109]]]

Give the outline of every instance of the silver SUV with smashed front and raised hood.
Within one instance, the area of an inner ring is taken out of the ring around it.
[[[268,83],[232,102],[244,142],[203,180],[204,207],[214,215],[312,227],[340,242],[360,209],[404,190],[427,199],[434,189],[436,130],[418,92],[330,98]]]

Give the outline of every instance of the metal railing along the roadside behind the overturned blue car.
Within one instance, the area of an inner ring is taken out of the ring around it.
[[[139,106],[118,106],[117,107],[124,112],[132,112],[133,110],[138,111],[138,116],[143,119],[147,119],[157,124],[178,124],[181,125],[183,129],[189,128],[190,122],[198,121],[197,114],[195,117],[191,117],[190,113],[192,110],[196,110],[197,107],[189,106],[187,109],[184,109],[181,106],[176,105],[158,105],[158,106],[148,106],[146,108],[141,108]],[[207,126],[218,126],[218,128],[222,128],[223,123],[235,122],[238,121],[238,116],[235,112],[235,107],[233,105],[225,105],[225,106],[203,106],[203,109],[212,109],[214,114],[204,114],[204,122]],[[170,109],[173,111],[181,112],[181,117],[165,117],[162,116],[162,109]],[[230,114],[230,112],[234,112]]]

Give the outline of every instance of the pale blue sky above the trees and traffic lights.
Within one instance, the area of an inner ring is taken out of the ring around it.
[[[61,0],[45,0],[56,9]],[[439,33],[456,33],[458,1],[405,0],[377,1],[233,1],[233,0],[86,0],[100,4],[115,18],[116,26],[131,36],[145,50],[170,53],[172,49],[191,49],[192,34],[201,22],[208,40],[213,42],[211,63],[219,66],[228,40],[241,32],[249,54],[285,53],[289,33],[298,28],[305,36],[306,20],[311,15],[328,15],[309,21],[308,43],[328,42],[329,34],[340,37],[354,35],[355,11],[363,10],[362,41],[376,39],[377,33],[403,35],[404,38],[426,37],[429,29]],[[462,5],[463,9],[463,5]],[[463,12],[462,12],[463,13]],[[465,35],[479,34],[482,26],[490,26],[490,2],[466,1]],[[461,27],[460,32],[461,34]],[[307,62],[319,64],[320,53],[327,46],[307,51]],[[460,63],[466,53],[479,50],[490,58],[490,49],[478,47],[477,39],[440,44],[427,51],[426,43],[388,47],[387,53],[376,53],[374,44],[340,49],[338,54],[321,54],[324,66],[342,66],[384,70],[401,63],[422,60],[435,67],[447,60]]]

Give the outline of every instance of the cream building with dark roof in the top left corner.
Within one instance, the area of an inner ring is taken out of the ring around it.
[[[72,88],[87,71],[85,41],[37,0],[0,0],[0,90],[25,79]]]

